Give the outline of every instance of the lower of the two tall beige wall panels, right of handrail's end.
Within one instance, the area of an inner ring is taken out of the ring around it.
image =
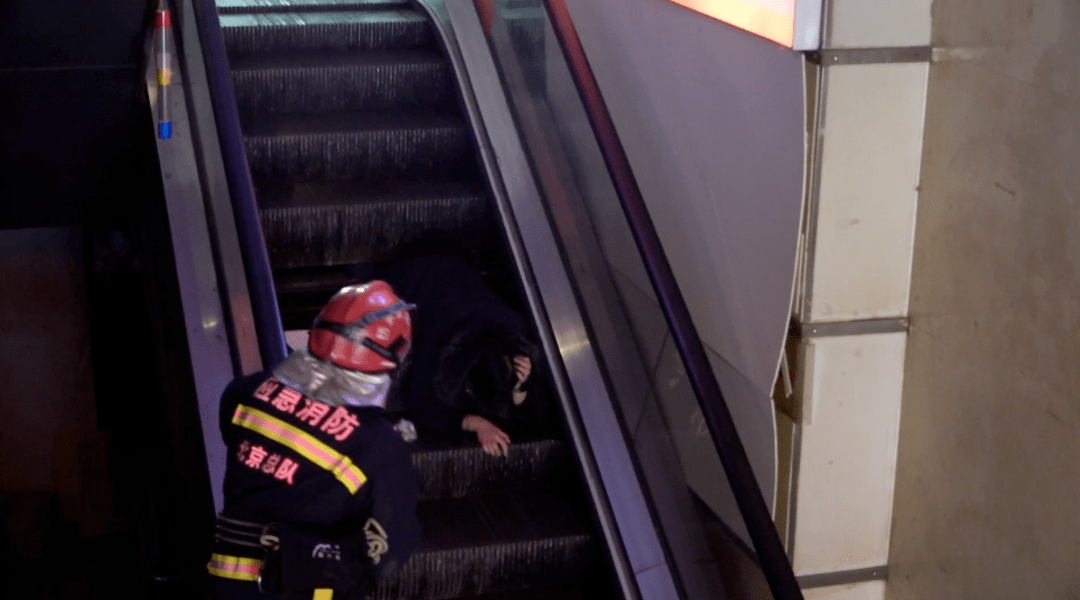
[[[888,561],[906,335],[811,339],[796,488],[799,575]]]

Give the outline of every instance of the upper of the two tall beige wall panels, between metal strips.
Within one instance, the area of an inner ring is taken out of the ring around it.
[[[927,64],[825,70],[809,321],[907,314]]]

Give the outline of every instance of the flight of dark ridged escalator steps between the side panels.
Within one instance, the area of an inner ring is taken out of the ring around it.
[[[217,5],[286,330],[362,283],[357,265],[431,254],[465,257],[523,310],[426,13],[390,0]],[[475,439],[417,444],[423,542],[377,598],[616,597],[565,439],[522,435],[507,458]]]

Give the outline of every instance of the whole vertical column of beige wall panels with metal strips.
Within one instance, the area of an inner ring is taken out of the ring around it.
[[[930,0],[833,0],[828,23],[831,47],[922,46]],[[797,575],[842,579],[889,563],[928,68],[823,68],[812,132],[820,176],[810,180],[815,204],[796,314],[804,331],[834,328],[804,338],[796,362],[802,408],[786,522]],[[867,321],[874,325],[859,324]],[[836,324],[855,328],[840,335]],[[891,332],[870,332],[881,330]],[[883,595],[885,583],[873,581],[809,588],[806,597]]]

